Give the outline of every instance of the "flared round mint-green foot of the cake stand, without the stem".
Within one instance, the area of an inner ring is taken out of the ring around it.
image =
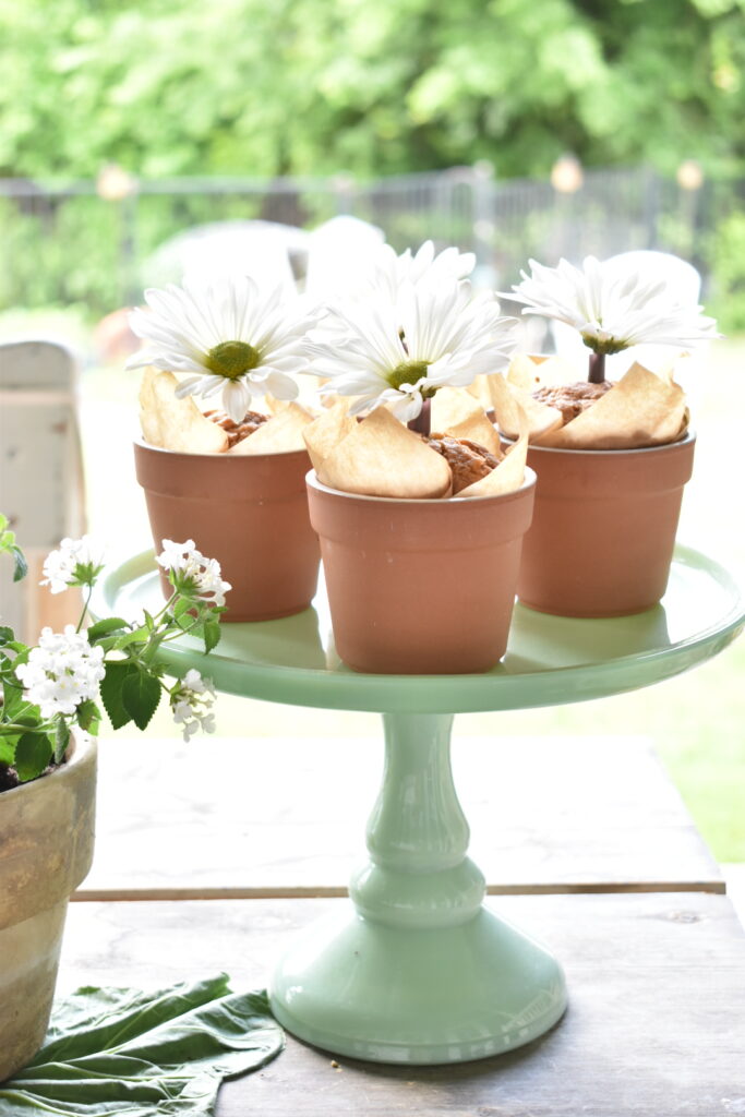
[[[555,958],[486,908],[426,930],[344,905],[296,938],[271,983],[271,1010],[289,1032],[372,1062],[499,1054],[542,1035],[565,1008]]]

